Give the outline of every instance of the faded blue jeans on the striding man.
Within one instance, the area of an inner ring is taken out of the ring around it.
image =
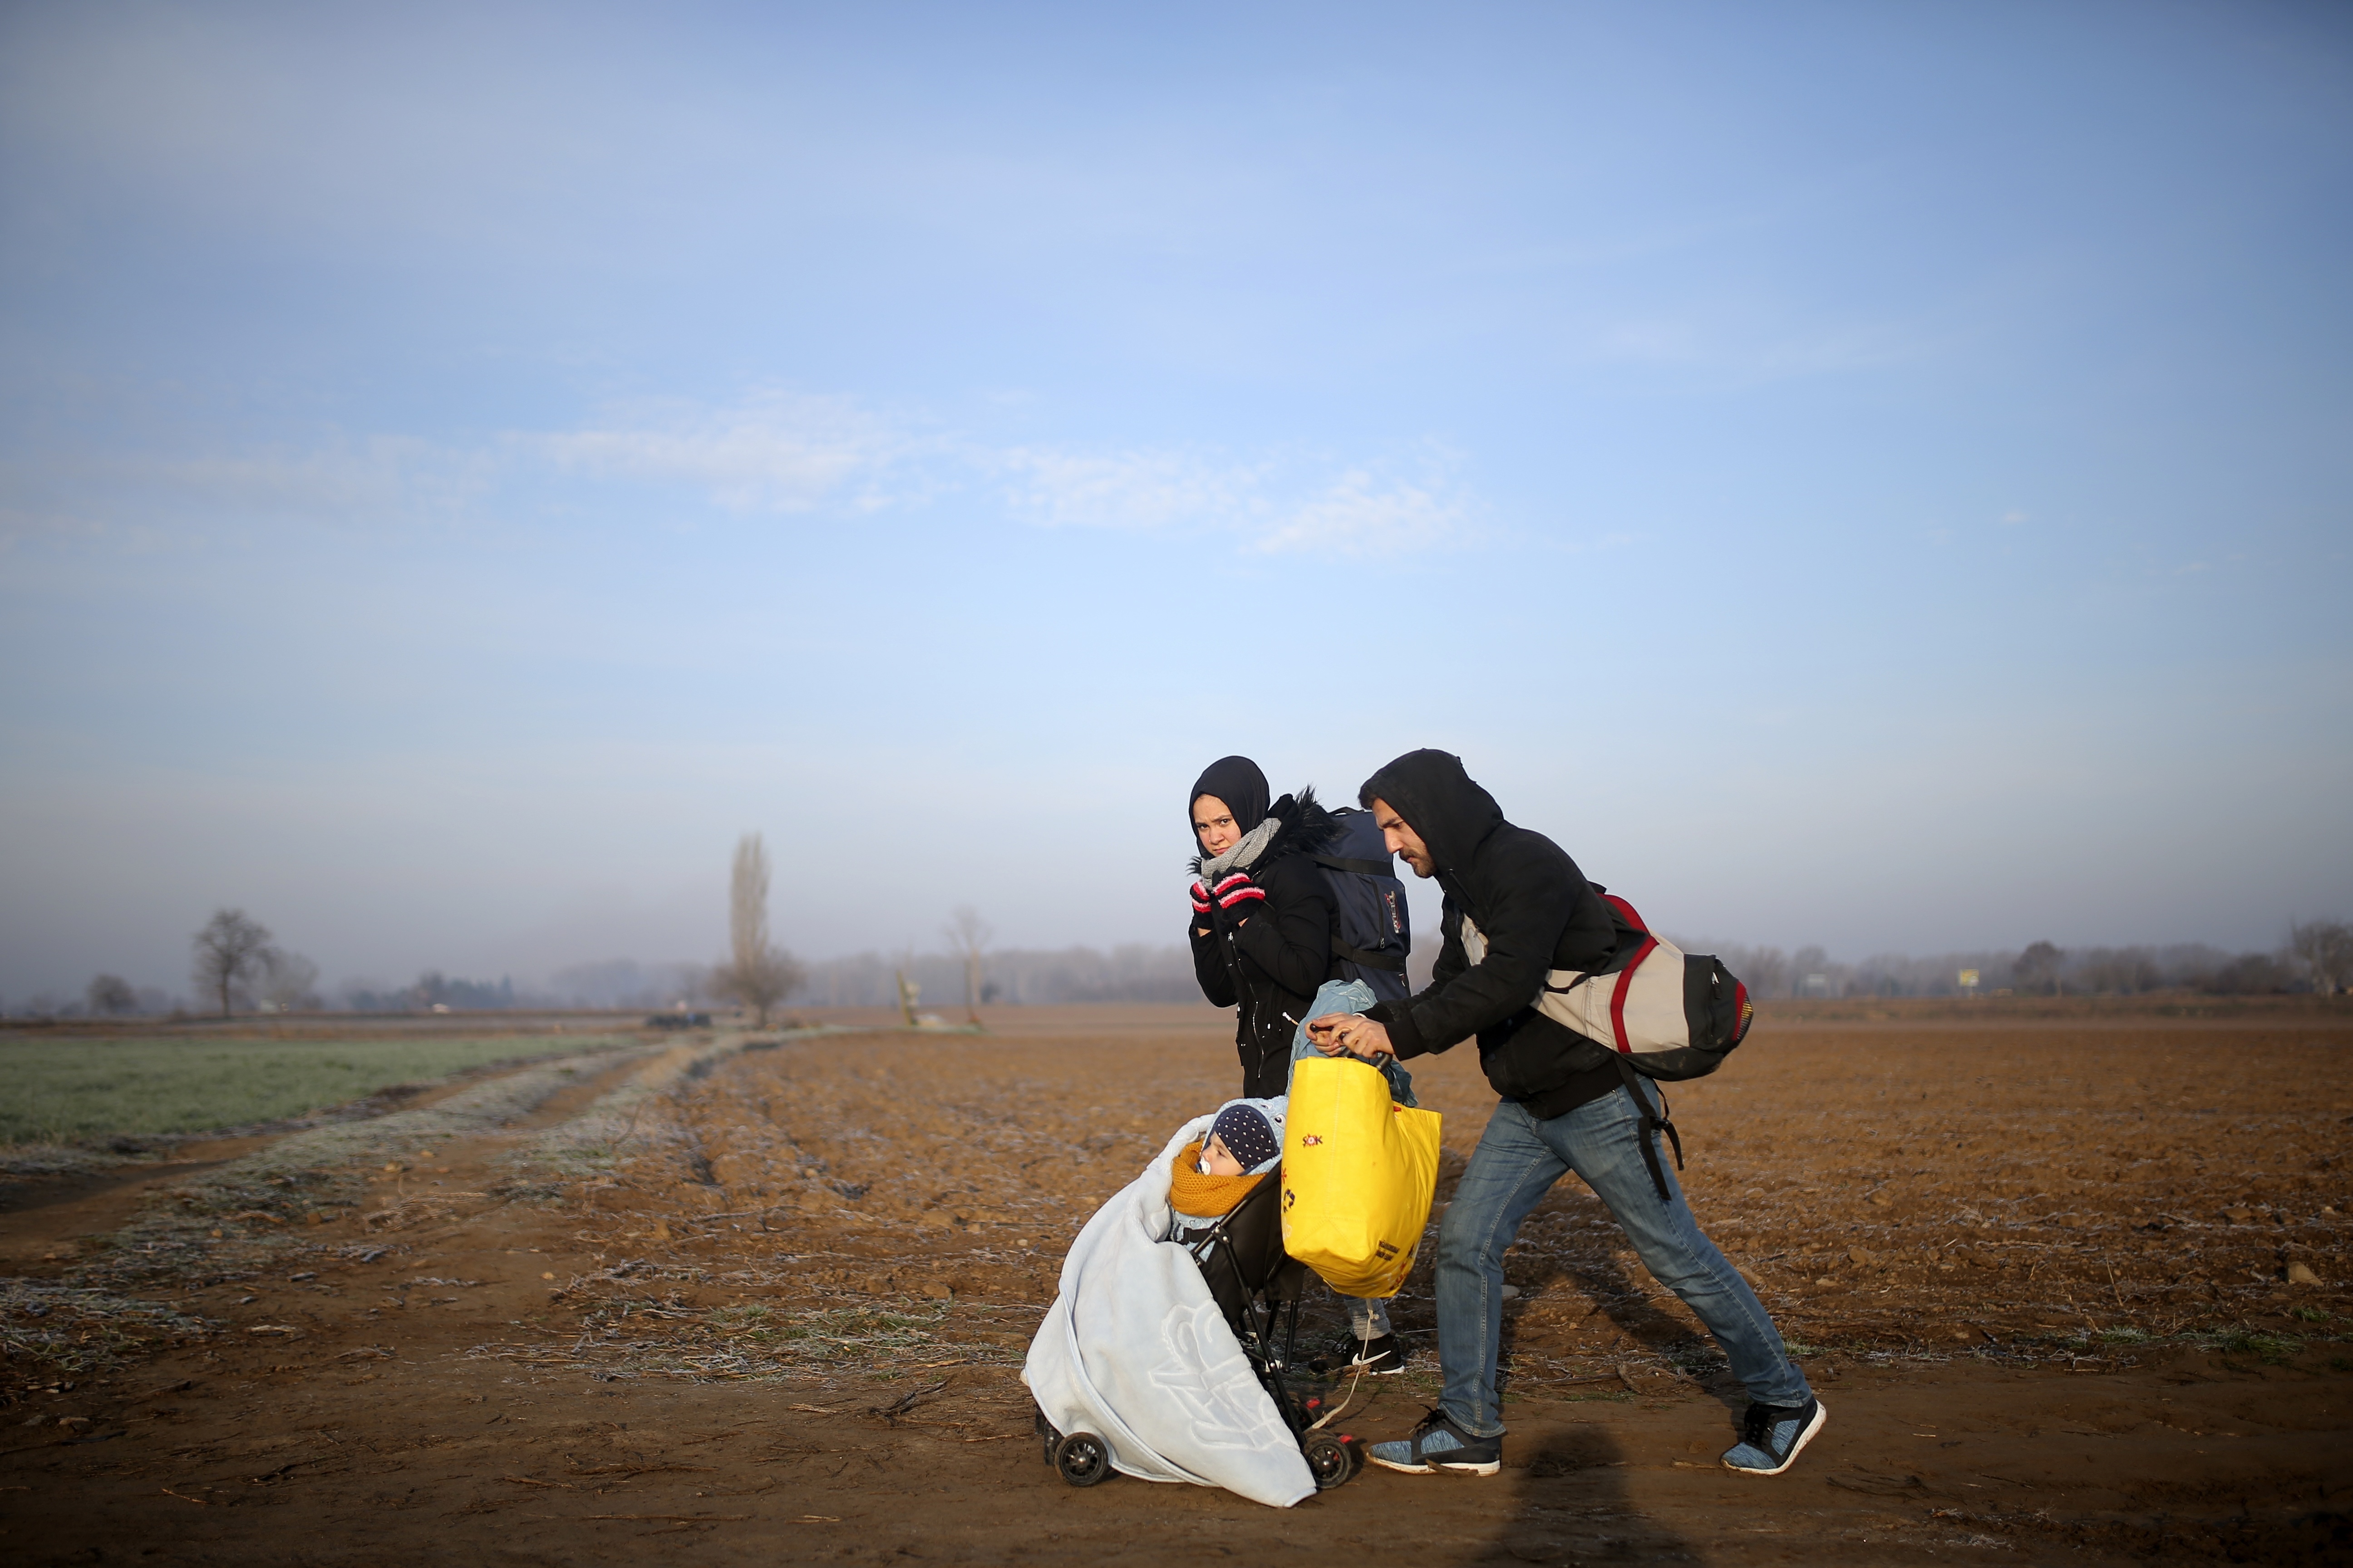
[[[1659,1091],[1642,1084],[1642,1093],[1657,1107]],[[1539,1121],[1513,1100],[1494,1107],[1438,1222],[1438,1361],[1447,1378],[1440,1403],[1457,1427],[1471,1436],[1504,1432],[1494,1387],[1504,1338],[1504,1248],[1520,1234],[1527,1211],[1569,1171],[1586,1178],[1593,1197],[1609,1208],[1642,1267],[1708,1326],[1732,1361],[1732,1375],[1748,1385],[1748,1399],[1767,1406],[1802,1406],[1809,1399],[1805,1373],[1784,1354],[1781,1333],[1755,1291],[1699,1234],[1666,1150],[1659,1152],[1659,1168],[1671,1192],[1666,1201],[1659,1201],[1642,1164],[1642,1112],[1621,1088],[1551,1121]]]

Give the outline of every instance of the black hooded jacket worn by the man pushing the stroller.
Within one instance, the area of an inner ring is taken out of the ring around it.
[[[1365,780],[1374,799],[1421,835],[1438,865],[1445,912],[1431,985],[1367,1016],[1388,1027],[1400,1058],[1447,1051],[1478,1037],[1480,1067],[1506,1100],[1558,1117],[1617,1088],[1609,1048],[1534,1009],[1551,969],[1607,969],[1617,917],[1577,860],[1541,832],[1513,827],[1487,790],[1449,752],[1407,752]],[[1464,952],[1464,914],[1487,938],[1487,957]]]

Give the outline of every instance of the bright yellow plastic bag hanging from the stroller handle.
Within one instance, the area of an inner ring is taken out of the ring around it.
[[[1282,1251],[1341,1295],[1391,1298],[1438,1192],[1438,1112],[1391,1105],[1379,1067],[1292,1065],[1282,1117]]]

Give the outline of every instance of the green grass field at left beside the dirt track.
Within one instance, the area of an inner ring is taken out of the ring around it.
[[[593,1051],[619,1037],[35,1039],[0,1041],[0,1143],[207,1133],[301,1117],[485,1063]]]

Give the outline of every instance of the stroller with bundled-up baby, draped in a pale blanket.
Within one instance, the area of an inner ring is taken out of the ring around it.
[[[1289,1507],[1362,1467],[1297,1356],[1308,1269],[1282,1251],[1280,1152],[1282,1100],[1228,1103],[1080,1232],[1024,1368],[1071,1486],[1122,1469]]]

